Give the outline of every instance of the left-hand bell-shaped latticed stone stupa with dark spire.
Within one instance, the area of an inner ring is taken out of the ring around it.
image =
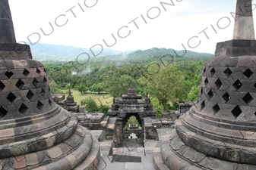
[[[0,0],[0,53],[0,169],[96,168],[98,141],[52,100],[43,64],[16,43],[8,0]]]

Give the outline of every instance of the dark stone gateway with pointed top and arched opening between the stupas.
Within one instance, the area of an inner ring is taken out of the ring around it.
[[[122,97],[116,97],[111,109],[108,111],[109,116],[117,117],[116,124],[116,145],[122,143],[124,139],[127,139],[130,134],[137,134],[137,138],[156,138],[156,129],[153,128],[152,119],[156,117],[156,110],[150,103],[150,98],[142,97],[141,94],[136,94],[134,85],[131,83],[131,87],[128,89],[128,94],[123,94]],[[125,125],[128,119],[134,116],[141,127],[144,127],[151,122],[150,127],[141,129],[126,129]],[[147,119],[145,121],[145,119]],[[145,129],[145,131],[144,131]],[[148,131],[153,131],[148,135]]]

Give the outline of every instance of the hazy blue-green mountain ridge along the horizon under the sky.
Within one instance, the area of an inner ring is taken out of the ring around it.
[[[91,55],[89,48],[75,48],[65,45],[49,45],[43,43],[36,43],[36,45],[30,45],[31,51],[33,53],[33,58],[36,60],[76,60],[77,56],[81,53],[88,53]],[[95,54],[99,54],[102,49],[93,48]],[[172,48],[150,48],[147,50],[137,50],[137,51],[115,51],[112,49],[104,48],[102,53],[93,57],[93,60],[104,59],[104,60],[132,60],[134,63],[147,63],[153,60],[159,60],[166,54],[172,55],[172,57],[179,58],[175,52],[185,57],[213,57],[213,54],[198,53],[193,51],[174,51]]]

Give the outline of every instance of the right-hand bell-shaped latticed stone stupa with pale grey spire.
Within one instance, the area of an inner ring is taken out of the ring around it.
[[[156,147],[154,162],[156,169],[256,169],[251,1],[237,1],[233,39],[217,43],[215,57],[204,66],[198,103]]]

